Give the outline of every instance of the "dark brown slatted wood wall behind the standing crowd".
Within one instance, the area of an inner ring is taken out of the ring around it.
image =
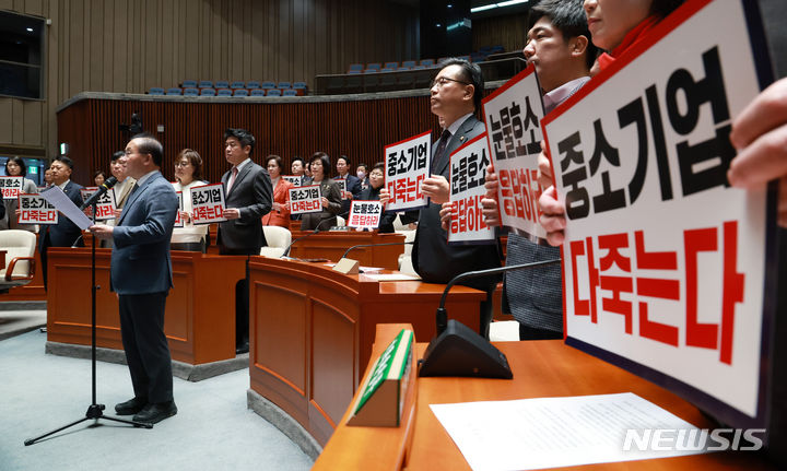
[[[178,152],[190,148],[205,163],[203,178],[219,181],[230,168],[224,158],[224,130],[246,128],[257,140],[252,158],[258,164],[269,154],[280,155],[289,174],[293,156],[308,157],[316,151],[327,152],[331,162],[338,155],[374,164],[383,161],[387,144],[433,130],[437,118],[430,111],[428,97],[391,97],[352,102],[301,99],[292,103],[195,103],[184,101],[127,101],[85,98],[58,114],[59,136],[70,145],[75,161],[72,179],[80,184],[91,180],[92,172],[108,169],[113,152],[124,149],[128,137],[118,123],[129,122],[139,111],[145,130],[164,144],[162,172],[174,179],[173,162]],[[333,169],[332,174],[336,173]]]

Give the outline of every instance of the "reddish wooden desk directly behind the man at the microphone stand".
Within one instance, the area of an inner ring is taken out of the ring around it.
[[[110,249],[96,250],[96,345],[122,350],[115,293],[109,291]],[[49,249],[47,340],[91,344],[91,250]],[[235,357],[235,283],[246,257],[173,251],[173,290],[164,332],[173,360],[200,365]]]

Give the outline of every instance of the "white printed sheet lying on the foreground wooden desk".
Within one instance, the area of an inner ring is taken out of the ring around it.
[[[713,444],[702,441],[702,431],[689,422],[631,392],[430,408],[475,471],[668,458],[706,452],[703,444]],[[685,438],[676,439],[678,446],[669,448],[703,449],[655,451],[648,441],[647,450],[641,451],[632,441],[630,451],[624,451],[629,428],[637,429],[637,437],[643,429],[651,428],[651,437],[657,429],[684,429]]]

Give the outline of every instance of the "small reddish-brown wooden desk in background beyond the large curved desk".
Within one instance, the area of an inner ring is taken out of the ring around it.
[[[312,231],[296,231],[292,239],[309,234]],[[320,232],[305,237],[290,248],[290,257],[294,258],[327,258],[339,261],[339,258],[352,246],[361,244],[403,243],[401,234],[379,234],[376,232]],[[359,260],[364,267],[381,267],[388,270],[399,269],[399,256],[404,252],[404,245],[383,247],[360,247],[351,251],[348,257]]]

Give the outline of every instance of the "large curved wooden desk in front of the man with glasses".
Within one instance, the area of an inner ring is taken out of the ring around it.
[[[357,388],[379,322],[409,322],[419,339],[435,333],[444,285],[377,282],[316,263],[252,257],[251,389],[295,419],[321,445]],[[484,293],[457,286],[451,318],[478,329]]]

